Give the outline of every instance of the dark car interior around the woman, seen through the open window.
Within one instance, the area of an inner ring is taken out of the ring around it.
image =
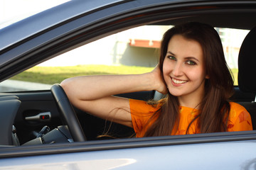
[[[240,18],[240,21],[244,19],[244,22],[238,23],[235,18]],[[250,13],[225,13],[225,15],[209,13],[204,16],[198,14],[174,19],[164,18],[164,21],[151,24],[167,26],[187,21],[200,21],[218,27],[250,30],[240,47],[238,86],[234,86],[234,95],[230,101],[240,103],[247,109],[252,118],[253,130],[256,130],[256,80],[252,76],[256,63],[254,56],[256,27],[253,28],[256,22],[251,22],[255,21],[255,18]],[[0,145],[41,145],[134,137],[132,128],[83,113],[78,108],[72,107],[68,98],[61,101],[61,95],[63,98],[66,97],[58,84],[46,91],[1,92],[0,108],[3,114],[0,114]],[[117,96],[144,101],[161,98],[156,91],[140,91]],[[68,113],[63,113],[66,111]],[[69,114],[71,112],[72,114]],[[69,117],[70,115],[72,116]]]

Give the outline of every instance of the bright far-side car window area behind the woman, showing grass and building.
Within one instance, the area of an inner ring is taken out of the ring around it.
[[[169,28],[140,26],[96,40],[1,82],[0,91],[48,90],[63,79],[81,75],[150,72],[158,63],[161,37]],[[248,30],[215,29],[238,85],[238,52]]]

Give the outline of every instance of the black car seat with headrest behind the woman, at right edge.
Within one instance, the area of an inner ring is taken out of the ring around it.
[[[252,28],[243,40],[238,55],[238,86],[242,92],[256,94],[256,27]],[[256,130],[256,96],[252,101],[238,102],[252,117],[253,130]]]

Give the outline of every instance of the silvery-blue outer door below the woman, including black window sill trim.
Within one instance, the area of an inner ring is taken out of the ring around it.
[[[0,168],[250,169],[255,132],[75,142],[0,149]]]

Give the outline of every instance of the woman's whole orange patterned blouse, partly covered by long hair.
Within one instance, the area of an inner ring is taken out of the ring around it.
[[[143,137],[146,130],[154,123],[156,119],[152,119],[150,123],[148,120],[151,118],[158,107],[154,107],[146,103],[146,101],[129,100],[130,111],[132,115],[132,125],[137,137]],[[187,108],[181,106],[180,109],[180,122],[178,124],[178,130],[171,135],[185,135],[191,120],[198,115],[198,110],[195,108]],[[198,119],[196,119],[188,130],[188,134],[200,133],[200,129],[196,126]],[[250,113],[238,103],[230,102],[230,115],[228,118],[228,132],[252,130],[252,120]]]

